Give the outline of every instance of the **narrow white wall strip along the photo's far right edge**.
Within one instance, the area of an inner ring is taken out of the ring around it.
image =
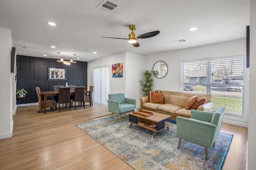
[[[248,121],[248,170],[256,167],[256,0],[250,0],[250,79]]]

